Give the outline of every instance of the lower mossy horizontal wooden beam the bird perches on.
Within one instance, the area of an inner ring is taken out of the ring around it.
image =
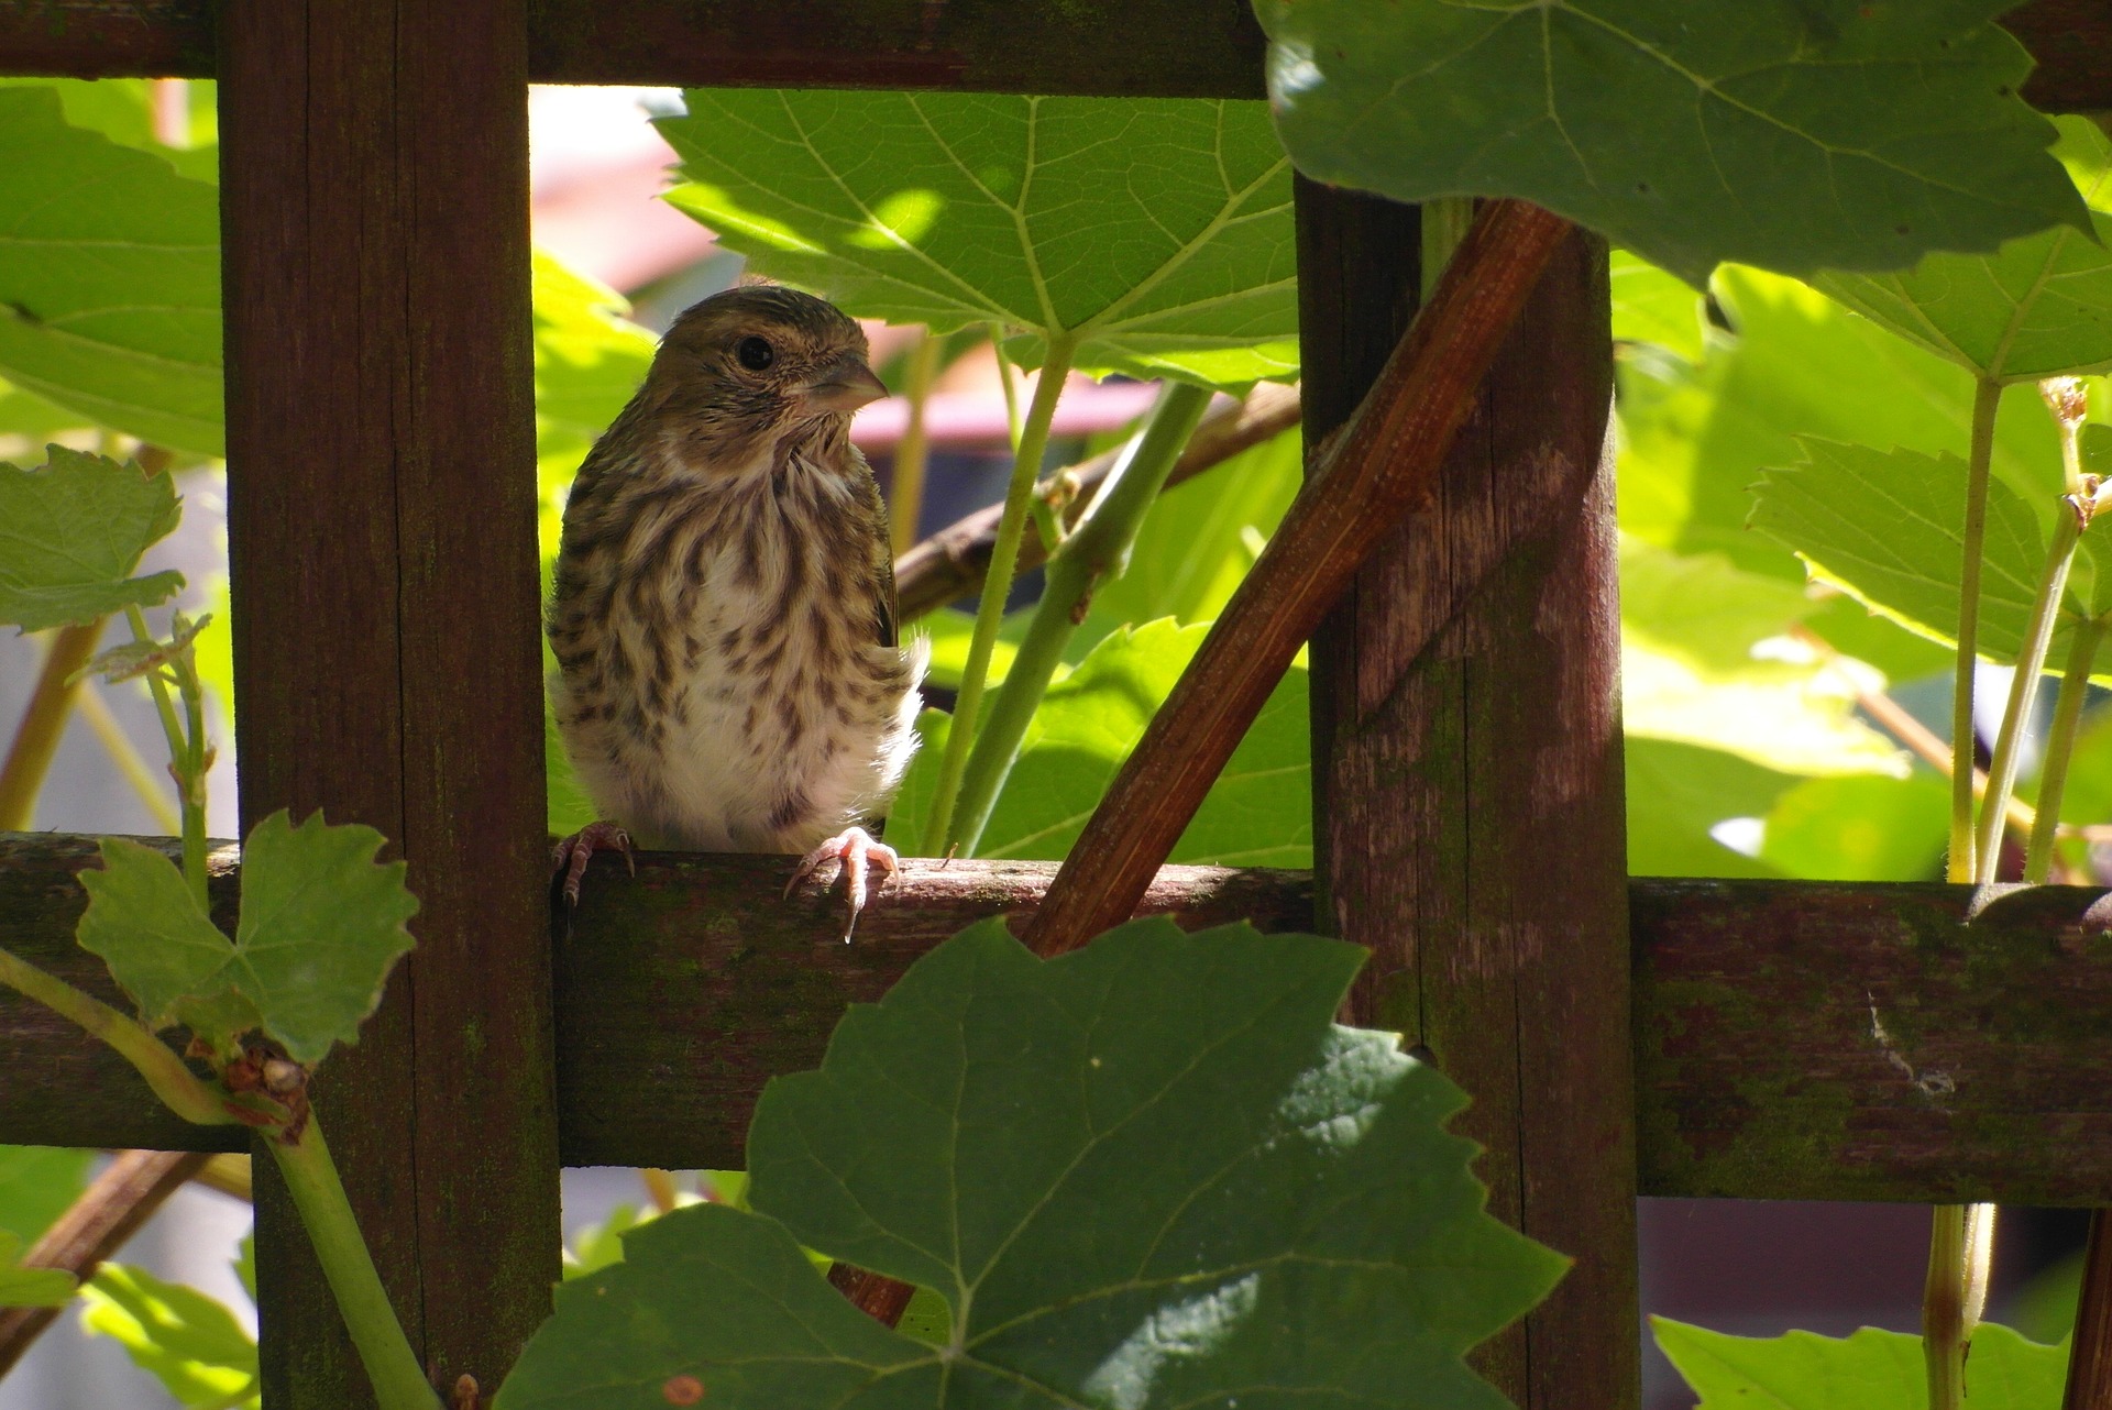
[[[84,838],[0,834],[0,935],[116,998],[72,944],[91,859]],[[779,899],[788,868],[644,853],[631,880],[602,859],[579,912],[555,916],[568,1165],[739,1165],[762,1083],[819,1062],[845,1005],[972,920],[1033,910],[1054,872],[908,861],[845,946],[834,891]],[[232,903],[232,849],[213,884]],[[1968,925],[1964,887],[1633,880],[1641,1190],[2112,1203],[2112,908],[2093,914],[2097,895],[2013,891]],[[1147,910],[1286,931],[1307,925],[1312,884],[1166,868]],[[122,1062],[6,992],[0,1142],[245,1148],[167,1117]]]

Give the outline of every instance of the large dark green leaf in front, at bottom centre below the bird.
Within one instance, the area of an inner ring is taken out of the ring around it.
[[[1360,960],[1164,918],[1056,960],[953,937],[765,1089],[756,1214],[678,1209],[566,1283],[501,1410],[1504,1406],[1462,1353],[1565,1260],[1485,1212],[1466,1095],[1333,1022]],[[942,1294],[946,1345],[800,1243]]]

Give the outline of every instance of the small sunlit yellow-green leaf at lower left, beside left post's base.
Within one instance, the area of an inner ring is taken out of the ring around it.
[[[258,1347],[222,1302],[146,1269],[106,1262],[82,1290],[80,1321],[110,1336],[180,1406],[232,1410],[260,1402]]]

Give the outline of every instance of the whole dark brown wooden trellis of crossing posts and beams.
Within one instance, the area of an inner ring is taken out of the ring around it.
[[[2032,101],[2112,108],[2101,0],[2004,23],[2040,61]],[[524,84],[1259,97],[1261,49],[1246,0],[0,4],[0,72],[220,80],[243,817],[325,806],[412,863],[420,948],[317,1100],[441,1385],[496,1387],[547,1313],[560,1163],[739,1163],[769,1072],[1048,878],[910,868],[843,948],[830,903],[775,901],[777,859],[646,859],[553,929]],[[1411,319],[1419,236],[1411,207],[1297,201],[1318,437]],[[1637,1190],[2112,1203],[2112,958],[2087,893],[1964,929],[1962,889],[1624,876],[1601,255],[1557,255],[1438,509],[1316,640],[1316,876],[1174,868],[1151,901],[1375,950],[1354,1017],[1476,1095],[1493,1209],[1578,1256],[1481,1357],[1533,1410],[1635,1404]],[[8,842],[0,916],[108,994],[70,941],[84,859]],[[0,1072],[0,1142],[230,1140],[13,996]],[[266,1404],[370,1404],[268,1171]]]

